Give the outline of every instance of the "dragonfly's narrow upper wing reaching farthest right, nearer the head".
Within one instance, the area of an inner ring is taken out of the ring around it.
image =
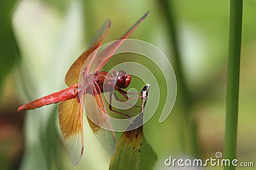
[[[125,41],[125,39],[127,39],[131,35],[131,33],[141,24],[141,22],[143,22],[143,20],[145,20],[147,15],[148,15],[148,12],[145,13],[140,18],[140,20],[138,20],[134,25],[132,25],[132,27],[127,32],[125,32],[125,34],[118,41],[115,41],[113,44],[108,46],[105,50],[100,52],[99,55],[96,57],[95,62],[94,62],[97,65],[93,66],[91,70],[92,71],[99,71],[100,69],[102,69],[102,67],[112,57],[113,53],[115,53],[115,51],[118,49],[118,47],[120,45],[122,45],[122,43]]]

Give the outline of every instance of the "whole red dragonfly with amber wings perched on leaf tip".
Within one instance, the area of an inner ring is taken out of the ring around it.
[[[110,92],[117,99],[115,90],[118,90],[120,94],[127,98],[127,92],[122,89],[129,86],[131,76],[125,71],[118,71],[118,73],[112,71],[112,74],[109,74],[106,71],[100,71],[100,69],[147,15],[148,12],[118,41],[96,55],[111,25],[111,21],[106,20],[97,31],[87,50],[78,57],[68,70],[65,76],[65,83],[68,88],[36,99],[18,108],[18,111],[33,110],[47,104],[61,102],[59,105],[61,134],[67,145],[70,160],[74,165],[78,164],[84,150],[83,108],[86,108],[86,115],[90,117],[87,117],[88,123],[102,147],[109,153],[113,154],[115,152],[115,132],[106,130],[113,130],[113,128],[106,116],[101,92]],[[104,84],[104,81],[107,83]],[[109,96],[111,97],[111,95]],[[93,103],[96,104],[93,105]],[[111,108],[111,105],[109,105],[109,108]]]

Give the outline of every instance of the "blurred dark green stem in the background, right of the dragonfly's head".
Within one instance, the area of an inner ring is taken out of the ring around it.
[[[166,17],[168,24],[168,31],[170,35],[170,40],[173,46],[173,59],[175,63],[175,74],[177,77],[177,85],[178,85],[178,96],[177,100],[182,102],[182,108],[184,108],[182,115],[180,115],[180,119],[182,120],[182,127],[180,129],[180,143],[182,148],[186,148],[183,150],[184,152],[190,152],[192,155],[199,155],[199,147],[198,147],[198,134],[197,134],[197,126],[194,115],[191,114],[191,94],[189,92],[186,79],[184,76],[184,70],[182,69],[182,63],[180,61],[180,51],[179,51],[179,39],[177,37],[177,27],[175,21],[175,13],[173,11],[172,1],[161,0],[161,9],[163,10],[164,17]],[[184,138],[184,134],[189,134],[189,139]]]

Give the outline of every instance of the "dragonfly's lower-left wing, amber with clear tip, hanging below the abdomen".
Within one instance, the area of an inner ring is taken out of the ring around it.
[[[77,99],[60,103],[59,124],[70,160],[76,165],[84,150],[83,111]]]

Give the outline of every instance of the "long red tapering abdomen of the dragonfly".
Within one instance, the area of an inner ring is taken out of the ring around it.
[[[48,96],[36,99],[27,104],[24,104],[18,108],[20,110],[33,110],[35,108],[40,108],[47,104],[58,103],[60,101],[67,101],[69,99],[74,99],[78,97],[78,83],[68,87],[67,89],[49,94]]]

